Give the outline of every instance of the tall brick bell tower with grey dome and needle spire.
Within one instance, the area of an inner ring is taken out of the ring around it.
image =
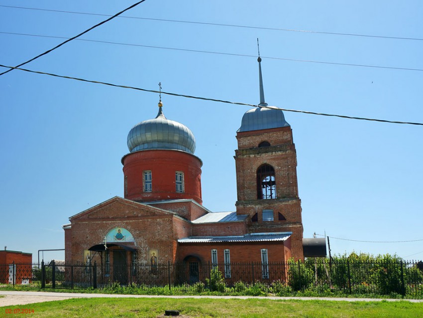
[[[303,259],[297,153],[284,114],[264,101],[261,58],[260,104],[242,117],[235,150],[237,214],[248,215],[250,232],[292,232],[292,256]]]

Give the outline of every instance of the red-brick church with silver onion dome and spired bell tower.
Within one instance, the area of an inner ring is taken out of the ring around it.
[[[129,153],[121,159],[124,197],[63,225],[67,262],[195,267],[304,259],[292,129],[281,110],[265,103],[260,57],[258,63],[260,104],[243,115],[236,132],[236,211],[212,212],[202,205],[203,162],[195,156],[195,137],[165,117],[160,100],[157,116],[129,131]]]

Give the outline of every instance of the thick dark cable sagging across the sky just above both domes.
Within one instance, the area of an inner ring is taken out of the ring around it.
[[[285,111],[285,112],[294,112],[294,113],[319,115],[319,116],[339,117],[339,118],[345,118],[345,119],[365,120],[365,121],[380,122],[380,123],[406,124],[406,125],[419,125],[419,126],[423,126],[423,123],[399,122],[399,121],[389,121],[389,120],[374,119],[374,118],[352,117],[352,116],[345,116],[345,115],[315,113],[315,112],[308,112],[308,111],[301,111],[301,110],[293,110],[293,109],[280,108],[280,107],[276,107],[276,106],[266,106],[266,107],[263,107],[263,106],[258,106],[258,105],[254,105],[254,104],[224,101],[224,100],[214,99],[214,98],[198,97],[198,96],[192,96],[192,95],[183,95],[183,94],[170,93],[170,92],[164,92],[164,91],[159,92],[159,91],[155,91],[155,90],[149,90],[149,89],[139,88],[139,87],[133,87],[133,86],[118,85],[118,84],[106,83],[106,82],[101,82],[101,81],[93,81],[93,80],[87,80],[87,79],[82,79],[82,78],[77,78],[77,77],[58,75],[58,74],[53,74],[53,73],[46,73],[46,72],[40,72],[40,71],[32,71],[32,70],[28,70],[28,69],[25,69],[25,68],[19,68],[19,67],[13,67],[13,66],[6,66],[6,65],[2,65],[2,64],[0,64],[0,67],[13,68],[13,69],[17,69],[17,70],[21,70],[21,71],[25,71],[25,72],[30,72],[30,73],[50,75],[50,76],[55,76],[55,77],[60,77],[60,78],[67,78],[67,79],[73,79],[73,80],[78,80],[78,81],[83,81],[83,82],[88,82],[88,83],[103,84],[103,85],[108,85],[108,86],[113,86],[113,87],[134,89],[134,90],[143,91],[143,92],[161,93],[161,94],[165,94],[165,95],[171,95],[171,96],[177,96],[177,97],[185,97],[185,98],[194,98],[194,99],[200,99],[200,100],[212,101],[212,102],[218,102],[218,103],[226,103],[226,104],[233,104],[233,105],[244,105],[244,106],[261,107],[261,108],[270,108],[270,109],[277,109],[277,110],[281,110],[281,111]]]

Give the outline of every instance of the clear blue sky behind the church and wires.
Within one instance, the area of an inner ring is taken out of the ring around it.
[[[136,1],[1,0],[0,32],[72,37]],[[266,102],[286,109],[423,122],[423,41],[216,26],[423,38],[423,2],[147,0],[82,36],[145,46],[257,55]],[[143,17],[148,19],[129,18]],[[17,65],[63,39],[0,33],[0,64]],[[71,41],[25,68],[120,85],[259,103],[256,57]],[[5,70],[0,68],[0,71]],[[0,247],[64,247],[68,218],[123,196],[126,136],[157,114],[158,95],[14,70],[0,76]],[[236,130],[247,106],[162,97],[188,126],[203,162],[204,205],[234,211]],[[326,234],[332,253],[423,258],[422,126],[285,112],[298,156],[304,236]],[[46,253],[46,260],[63,253]]]

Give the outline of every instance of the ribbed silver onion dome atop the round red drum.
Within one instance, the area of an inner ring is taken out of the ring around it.
[[[136,124],[129,131],[127,144],[129,152],[150,149],[181,150],[194,154],[196,141],[191,130],[181,123],[166,119],[159,103],[155,119]]]

